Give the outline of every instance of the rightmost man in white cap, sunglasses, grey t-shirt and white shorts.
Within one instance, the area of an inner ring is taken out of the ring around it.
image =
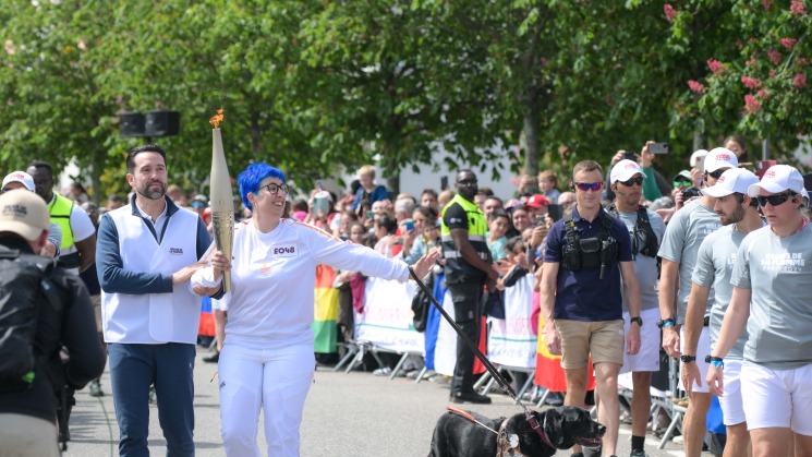
[[[803,177],[774,165],[748,188],[768,226],[742,240],[730,276],[732,294],[708,357],[711,393],[730,395],[734,346],[747,326],[741,396],[753,456],[812,455],[812,226]],[[727,365],[727,366],[726,366]],[[723,374],[724,373],[724,374]],[[724,378],[723,378],[724,377]]]

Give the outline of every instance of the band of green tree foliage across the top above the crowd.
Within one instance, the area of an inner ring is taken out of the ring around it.
[[[74,159],[125,190],[123,111],[181,111],[154,139],[187,189],[252,160],[303,187],[379,157],[389,176],[502,154],[524,167],[602,163],[669,141],[660,167],[741,133],[786,151],[808,132],[810,15],[801,0],[375,0],[0,4],[0,158]],[[508,170],[502,170],[507,172]]]

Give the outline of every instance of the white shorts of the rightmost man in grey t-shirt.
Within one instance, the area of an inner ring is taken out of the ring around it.
[[[772,370],[744,362],[741,396],[748,399],[744,401],[748,430],[791,428],[798,434],[812,436],[812,363]]]

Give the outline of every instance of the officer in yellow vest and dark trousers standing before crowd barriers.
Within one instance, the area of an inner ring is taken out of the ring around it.
[[[457,195],[443,208],[440,236],[446,257],[446,284],[453,301],[455,321],[472,341],[478,344],[482,294],[498,273],[493,268],[485,233],[485,215],[474,203],[478,191],[471,170],[457,173]],[[451,380],[451,401],[489,404],[490,398],[474,392],[474,353],[457,337],[457,365]]]

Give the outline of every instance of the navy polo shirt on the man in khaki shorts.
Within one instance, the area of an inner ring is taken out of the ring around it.
[[[603,208],[592,223],[582,219],[578,215],[578,208],[572,208],[572,220],[581,239],[597,237],[603,228],[604,218],[611,220],[609,231],[618,242],[618,262],[607,266],[603,279],[599,279],[601,267],[571,272],[561,266],[556,279],[554,318],[587,322],[622,318],[619,262],[632,261],[629,231],[621,220],[609,216]],[[547,234],[544,262],[561,263],[566,233],[563,220],[556,221]]]

